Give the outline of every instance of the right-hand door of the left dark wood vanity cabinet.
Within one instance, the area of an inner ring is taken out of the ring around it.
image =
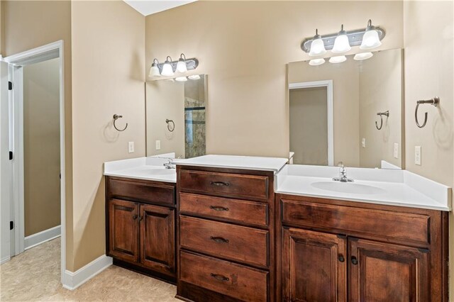
[[[140,262],[163,274],[175,274],[175,210],[140,205]]]

